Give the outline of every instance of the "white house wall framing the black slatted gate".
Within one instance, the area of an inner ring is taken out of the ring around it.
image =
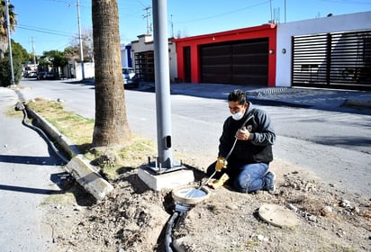
[[[276,37],[276,86],[291,86],[292,37],[305,34],[371,29],[371,12],[332,15],[292,23],[278,23]],[[283,50],[285,49],[285,53]]]

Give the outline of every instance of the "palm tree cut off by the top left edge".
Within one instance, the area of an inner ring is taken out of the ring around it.
[[[16,14],[14,14],[14,5],[8,4],[9,9],[9,23],[10,30],[14,30],[14,25],[17,24],[15,19]],[[6,32],[6,10],[5,10],[5,0],[1,0],[0,4],[0,58],[4,58],[4,53],[8,49],[8,35]]]

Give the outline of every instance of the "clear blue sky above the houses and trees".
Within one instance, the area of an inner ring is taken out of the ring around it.
[[[32,41],[36,54],[42,55],[46,50],[63,50],[78,37],[77,0],[9,1],[18,20],[12,39],[28,52],[32,52]],[[118,0],[122,43],[147,33],[145,8],[151,4],[151,0]],[[370,0],[167,0],[168,35],[174,31],[185,37],[257,26],[271,16],[285,23],[366,11],[371,11]],[[152,23],[152,9],[149,14]],[[80,23],[83,33],[92,29],[91,0],[80,0]]]

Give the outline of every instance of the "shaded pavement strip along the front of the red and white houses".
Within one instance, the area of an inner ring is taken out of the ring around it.
[[[155,92],[154,83],[141,83],[138,90]],[[261,105],[294,106],[339,112],[371,114],[371,92],[304,87],[257,87],[222,84],[171,84],[171,94],[226,100],[231,90],[247,92],[249,101]]]

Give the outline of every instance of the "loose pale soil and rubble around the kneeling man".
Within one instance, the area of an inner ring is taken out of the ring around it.
[[[205,179],[207,158],[183,159],[194,170],[195,184]],[[141,164],[122,167],[119,178],[110,181],[113,193],[102,202],[66,179],[67,193],[43,205],[54,251],[167,251],[166,229],[175,202],[171,190],[155,192],[140,181]],[[369,199],[284,160],[275,160],[271,169],[275,194],[237,193],[225,185],[178,217],[173,251],[371,251]],[[280,228],[261,220],[258,209],[264,203],[293,211],[299,225]]]

